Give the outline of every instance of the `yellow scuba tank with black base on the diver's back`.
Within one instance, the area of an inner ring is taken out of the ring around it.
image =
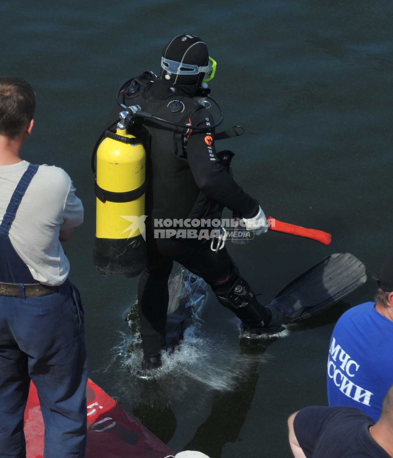
[[[145,149],[119,122],[116,134],[105,132],[96,156],[94,266],[105,276],[135,277],[146,258]]]

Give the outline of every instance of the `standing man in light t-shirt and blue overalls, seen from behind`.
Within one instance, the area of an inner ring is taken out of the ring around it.
[[[64,170],[20,158],[35,107],[26,81],[0,77],[0,457],[26,456],[31,380],[45,423],[45,455],[84,457],[83,310],[60,243],[82,224],[83,206]]]

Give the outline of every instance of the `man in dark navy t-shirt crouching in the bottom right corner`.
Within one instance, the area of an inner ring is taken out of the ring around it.
[[[393,385],[377,423],[353,407],[306,407],[288,419],[295,458],[393,457]]]

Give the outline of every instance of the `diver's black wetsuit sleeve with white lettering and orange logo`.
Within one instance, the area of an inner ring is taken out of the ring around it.
[[[208,126],[213,123],[210,112],[200,109],[191,118],[191,129],[192,125]],[[258,202],[244,192],[220,164],[214,147],[214,130],[191,131],[187,142],[187,158],[198,188],[207,196],[245,218],[257,215]]]

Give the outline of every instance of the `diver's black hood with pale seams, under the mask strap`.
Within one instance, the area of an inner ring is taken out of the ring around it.
[[[178,35],[172,38],[166,44],[162,57],[175,62],[197,65],[198,67],[206,66],[209,63],[207,46],[201,38],[195,35]],[[163,68],[161,68],[160,75],[164,81],[171,84],[195,87],[198,87],[205,77],[204,72],[196,75],[175,75]]]

